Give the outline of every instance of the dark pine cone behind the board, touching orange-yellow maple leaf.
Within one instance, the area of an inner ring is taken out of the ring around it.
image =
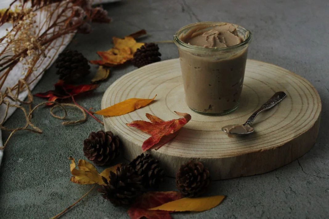
[[[159,53],[159,46],[157,44],[145,43],[140,49],[137,49],[132,62],[134,66],[140,68],[160,61],[161,58],[159,56],[161,56],[161,53]]]

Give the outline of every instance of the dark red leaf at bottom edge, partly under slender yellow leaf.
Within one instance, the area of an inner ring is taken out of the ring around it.
[[[183,198],[181,193],[176,191],[146,192],[129,208],[128,215],[131,219],[140,219],[142,217],[147,219],[170,219],[170,211],[147,209],[158,207],[167,202],[175,201],[181,198]]]

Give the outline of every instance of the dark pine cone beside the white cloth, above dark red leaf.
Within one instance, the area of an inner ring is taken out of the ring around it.
[[[57,74],[65,83],[80,83],[89,74],[88,60],[79,52],[64,50],[56,61]]]

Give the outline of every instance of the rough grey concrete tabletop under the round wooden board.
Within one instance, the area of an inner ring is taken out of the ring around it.
[[[307,78],[322,100],[318,140],[303,157],[275,171],[212,184],[211,195],[224,194],[224,202],[201,213],[176,213],[173,218],[329,218],[328,145],[328,36],[329,3],[326,0],[127,0],[104,5],[113,17],[109,25],[95,25],[89,35],[77,35],[70,49],[88,59],[110,48],[112,36],[124,36],[145,28],[147,42],[170,40],[183,25],[196,21],[226,21],[240,24],[254,34],[249,58],[273,63]],[[162,59],[178,57],[174,44],[161,44]],[[135,69],[124,66],[93,93],[76,100],[86,108],[100,109],[105,89],[117,78]],[[94,73],[96,67],[92,67]],[[54,66],[46,72],[33,93],[44,92],[57,80]],[[124,84],[122,86],[125,86]],[[35,98],[35,103],[43,100]],[[63,127],[47,109],[34,118],[44,134],[20,132],[5,150],[0,169],[0,218],[49,218],[71,205],[90,186],[69,182],[68,157],[83,159],[82,141],[101,129],[95,120]],[[19,111],[6,122],[23,124]],[[8,133],[4,133],[6,139]],[[167,178],[164,189],[175,189]],[[128,218],[127,208],[114,208],[96,191],[67,212],[63,218]]]

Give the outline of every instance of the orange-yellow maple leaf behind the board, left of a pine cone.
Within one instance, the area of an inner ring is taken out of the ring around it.
[[[91,60],[90,63],[103,66],[116,66],[123,64],[133,58],[134,53],[144,43],[138,43],[132,36],[126,36],[124,39],[113,37],[114,48],[97,52],[102,60]]]

